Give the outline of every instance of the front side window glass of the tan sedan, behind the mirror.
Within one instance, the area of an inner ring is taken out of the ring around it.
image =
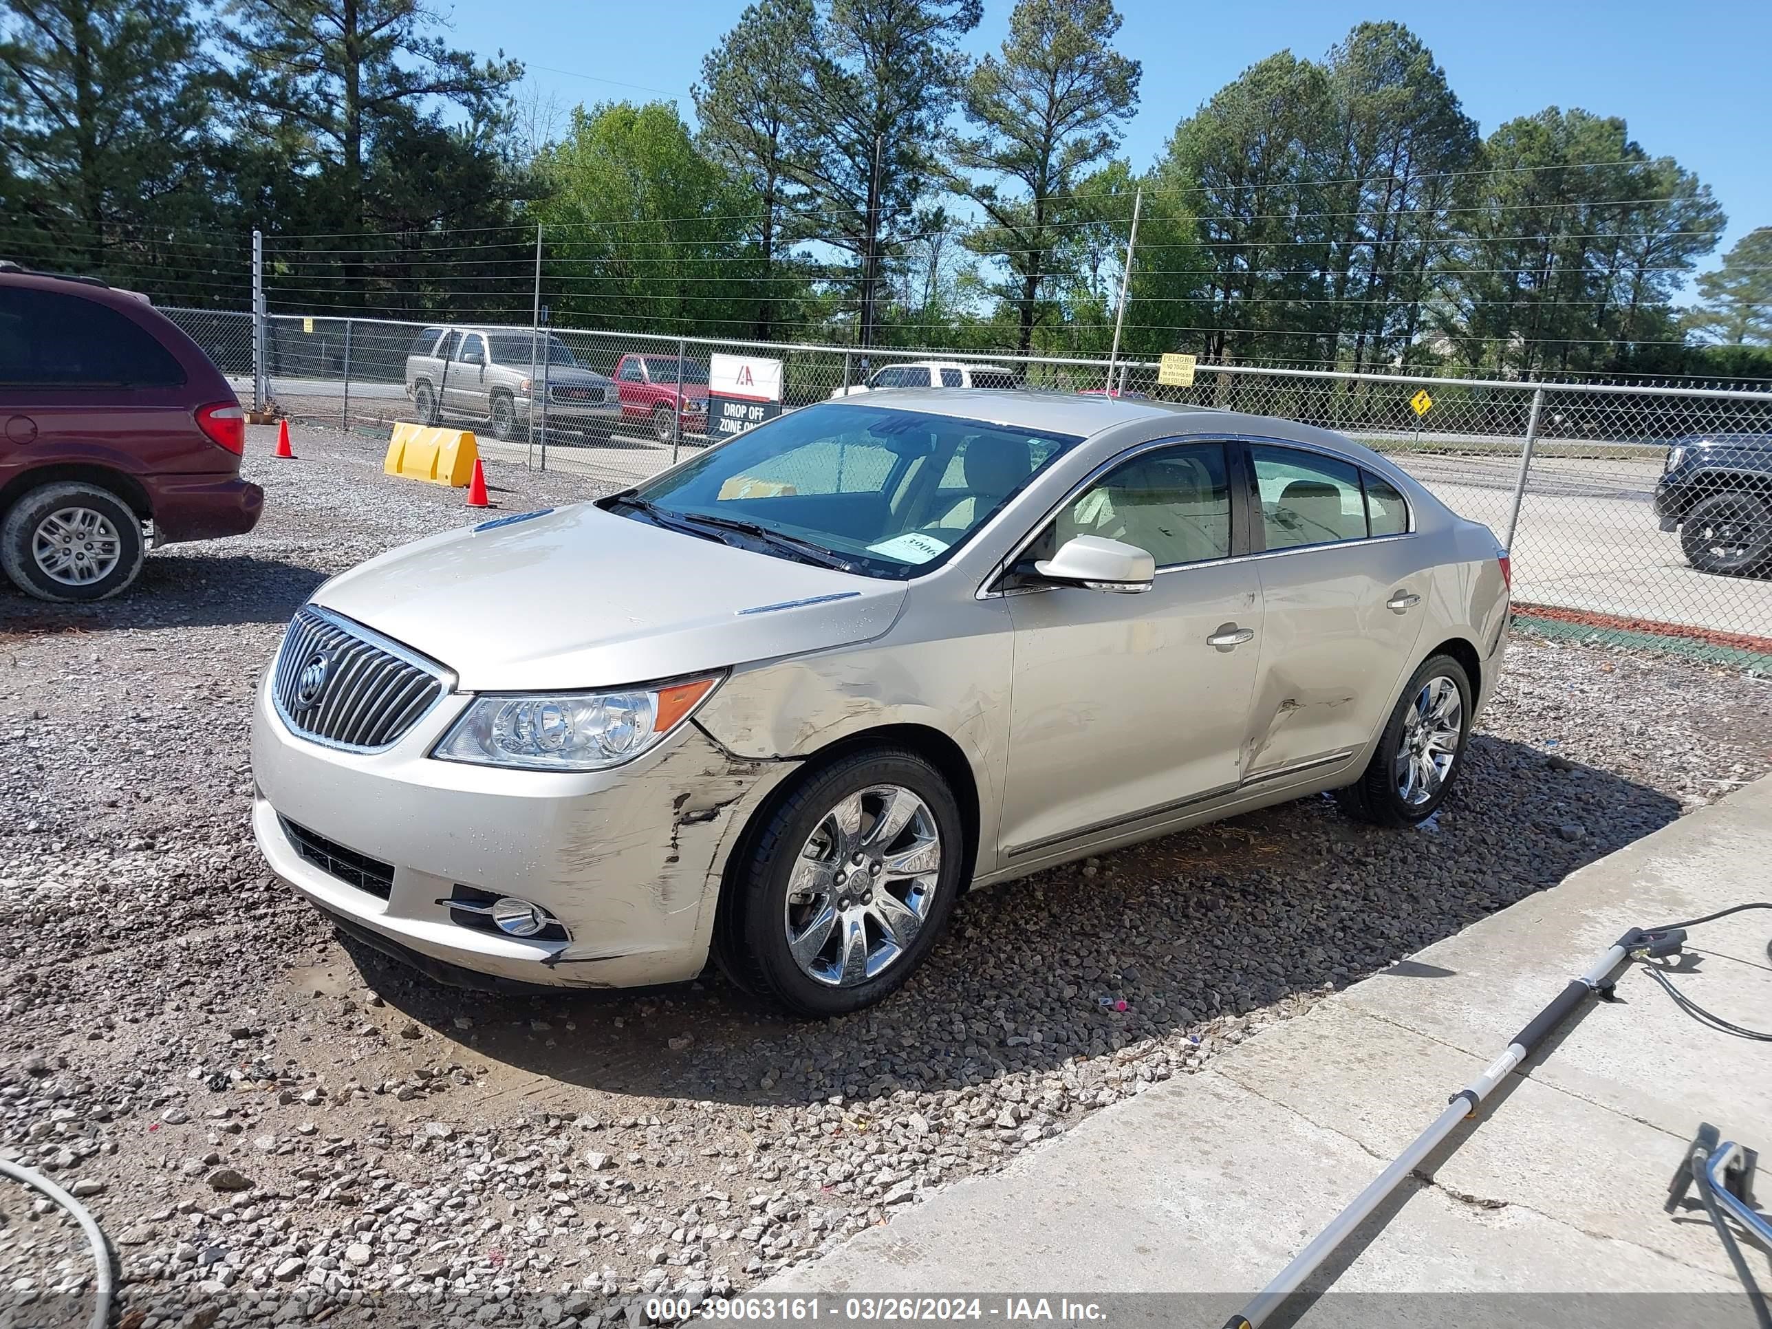
[[[1224,445],[1185,443],[1116,466],[1054,517],[1054,549],[1077,535],[1145,549],[1157,567],[1230,558]]]

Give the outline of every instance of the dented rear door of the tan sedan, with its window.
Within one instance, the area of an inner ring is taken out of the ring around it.
[[[1423,542],[1386,480],[1325,452],[1249,445],[1265,641],[1244,780],[1308,778],[1384,723],[1421,634]]]

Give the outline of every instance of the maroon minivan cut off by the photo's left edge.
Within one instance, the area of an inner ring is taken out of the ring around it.
[[[145,299],[0,264],[0,569],[19,590],[99,601],[149,537],[252,530],[245,445],[222,370]]]

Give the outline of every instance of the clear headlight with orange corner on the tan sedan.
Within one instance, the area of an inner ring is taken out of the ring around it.
[[[431,755],[525,771],[606,771],[661,742],[718,682],[551,696],[482,693]]]

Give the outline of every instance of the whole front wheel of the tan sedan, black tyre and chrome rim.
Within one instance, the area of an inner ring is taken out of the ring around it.
[[[900,748],[810,773],[746,843],[721,964],[797,1015],[886,998],[929,955],[959,895],[959,803],[936,767]]]

